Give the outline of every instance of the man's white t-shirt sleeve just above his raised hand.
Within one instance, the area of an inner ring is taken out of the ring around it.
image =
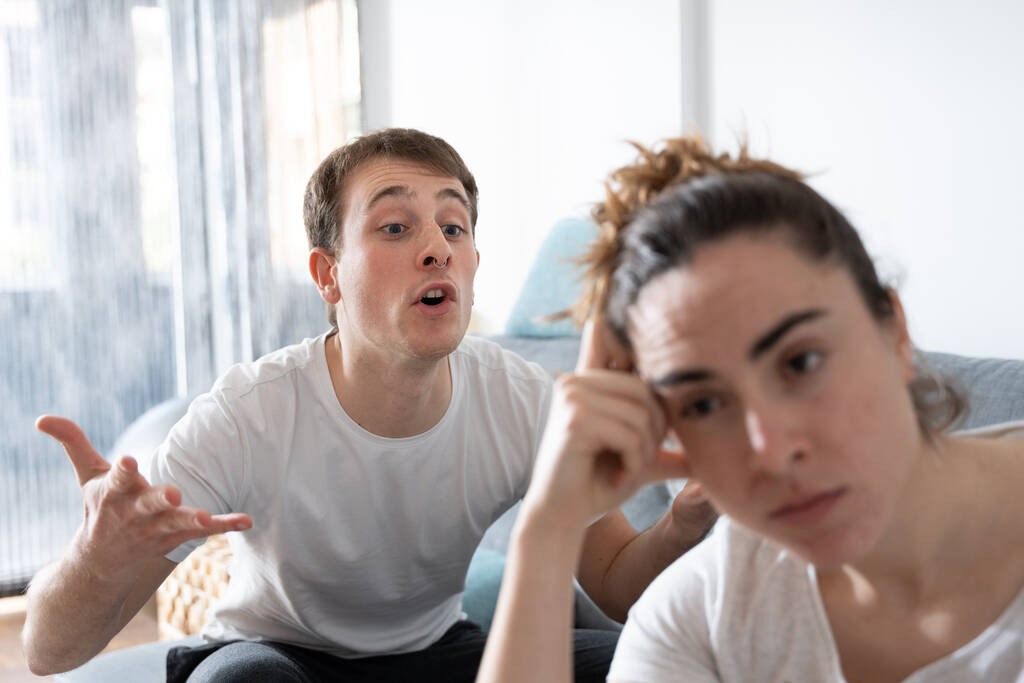
[[[199,396],[150,458],[145,476],[151,484],[171,484],[181,492],[181,504],[210,514],[247,512],[238,509],[244,490],[245,439],[216,393]],[[166,557],[180,562],[205,539],[188,541]]]

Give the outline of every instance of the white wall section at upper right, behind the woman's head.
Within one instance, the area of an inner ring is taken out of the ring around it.
[[[819,172],[923,348],[1024,358],[1024,5],[713,0],[712,138]]]

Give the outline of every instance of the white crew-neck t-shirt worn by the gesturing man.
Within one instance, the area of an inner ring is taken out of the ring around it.
[[[186,505],[253,518],[227,535],[231,580],[207,638],[340,656],[422,649],[463,617],[481,536],[526,492],[552,380],[467,337],[450,355],[441,420],[385,438],[342,410],[325,338],[228,370],[174,426],[147,477],[181,488]]]

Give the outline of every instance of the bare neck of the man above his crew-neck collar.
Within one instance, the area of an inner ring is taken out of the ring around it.
[[[402,359],[342,348],[338,334],[325,342],[334,393],[367,431],[390,438],[421,434],[440,421],[452,400],[447,356]]]

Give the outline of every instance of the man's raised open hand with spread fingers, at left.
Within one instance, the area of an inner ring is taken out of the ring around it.
[[[151,486],[131,456],[113,465],[71,420],[43,416],[36,428],[63,446],[82,487],[85,518],[75,544],[97,579],[117,581],[185,541],[252,527],[247,514],[211,515],[181,505],[174,486]]]

